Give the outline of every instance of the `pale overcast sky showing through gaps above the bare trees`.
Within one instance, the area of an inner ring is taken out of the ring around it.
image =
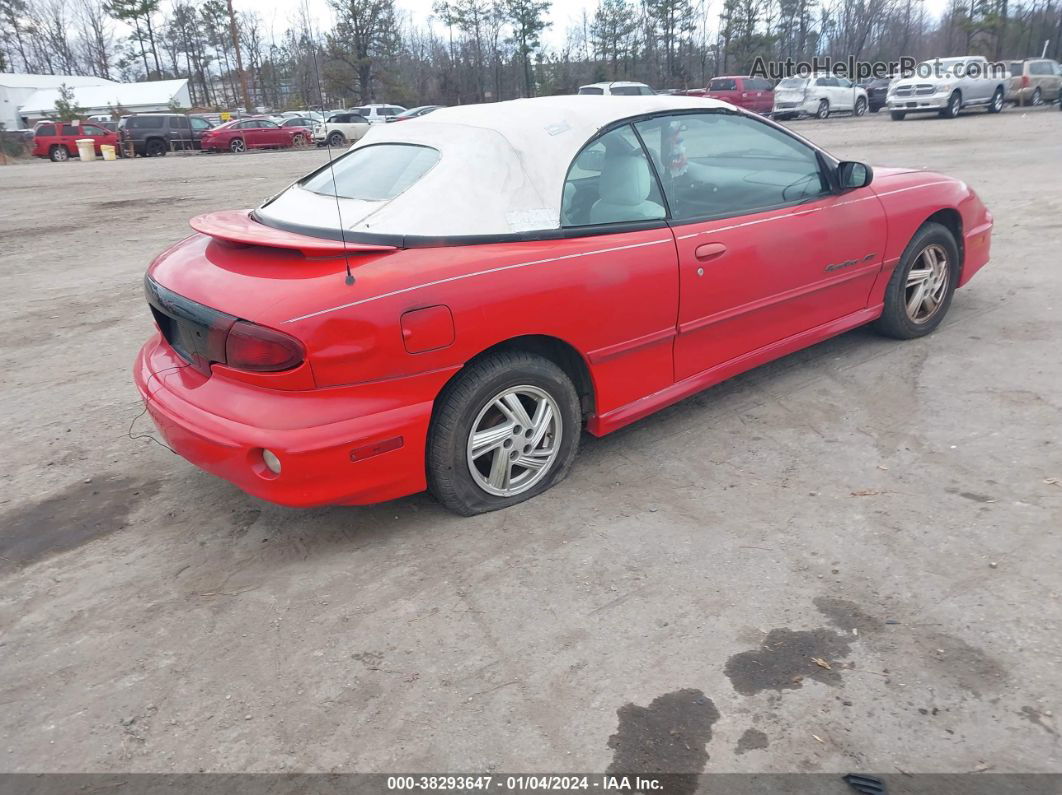
[[[306,2],[310,10],[310,15],[316,20],[319,29],[330,28],[335,22],[335,14],[327,0],[233,0],[233,5],[238,11],[257,11],[266,23],[266,30],[272,27],[274,35],[279,39],[281,33],[289,27],[290,18],[294,15],[295,8]],[[709,2],[709,30],[718,23],[719,11],[723,0],[710,0]],[[932,15],[939,15],[947,4],[947,0],[924,0],[926,11]],[[396,0],[399,14],[412,15],[412,19],[425,24],[431,17],[431,6],[433,0]],[[577,22],[583,11],[593,15],[597,7],[597,0],[553,0],[553,7],[550,13],[552,27],[543,36],[544,42],[552,47],[564,44],[564,37],[569,23]],[[436,30],[442,29],[438,22],[434,23]]]

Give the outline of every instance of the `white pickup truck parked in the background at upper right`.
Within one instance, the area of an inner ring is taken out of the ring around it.
[[[937,113],[954,119],[966,107],[984,107],[990,114],[1003,110],[1007,74],[981,55],[925,61],[914,74],[894,80],[886,105],[893,121],[907,114]]]

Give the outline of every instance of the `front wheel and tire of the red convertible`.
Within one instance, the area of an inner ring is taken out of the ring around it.
[[[933,264],[941,257],[942,272]],[[952,231],[941,224],[923,224],[889,278],[885,308],[874,322],[875,330],[895,340],[930,333],[952,306],[960,266],[959,246]]]

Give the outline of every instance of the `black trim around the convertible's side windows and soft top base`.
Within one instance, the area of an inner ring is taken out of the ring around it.
[[[819,160],[819,168],[826,176],[826,184],[829,186],[829,191],[827,193],[818,196],[808,196],[806,198],[793,200],[792,202],[786,202],[783,204],[774,205],[771,207],[761,207],[754,210],[741,210],[739,212],[713,214],[705,217],[698,217],[692,219],[683,219],[682,221],[675,221],[670,218],[670,212],[668,212],[666,218],[663,219],[652,219],[648,221],[623,221],[615,224],[596,224],[593,226],[558,226],[554,229],[534,229],[532,231],[521,231],[521,232],[496,232],[490,235],[446,235],[446,236],[429,236],[429,235],[393,235],[393,234],[379,234],[379,232],[359,232],[359,231],[340,231],[339,229],[330,229],[327,227],[320,226],[308,226],[306,224],[295,224],[287,221],[278,221],[276,219],[267,219],[259,215],[255,210],[251,211],[252,220],[262,224],[263,226],[269,226],[274,229],[280,229],[282,231],[289,231],[294,235],[305,235],[310,238],[321,238],[323,240],[346,240],[348,243],[366,243],[376,245],[393,245],[397,248],[441,248],[448,246],[460,246],[460,245],[487,245],[491,243],[523,243],[523,242],[534,242],[534,241],[545,241],[545,240],[571,240],[576,238],[592,238],[601,235],[620,235],[629,231],[646,231],[650,229],[675,229],[683,226],[689,226],[691,224],[703,224],[708,221],[723,221],[730,218],[740,218],[742,215],[753,215],[758,212],[771,212],[777,209],[785,209],[786,207],[795,207],[802,204],[808,204],[810,202],[821,201],[828,195],[837,195],[842,193],[843,190],[837,184],[837,167],[840,161],[833,155],[827,153],[821,146],[816,145],[808,139],[804,138],[796,133],[793,133],[788,127],[780,124],[771,119],[766,119],[758,114],[751,114],[740,109],[729,109],[729,108],[679,108],[671,110],[656,110],[649,114],[640,114],[638,116],[631,116],[626,119],[617,119],[616,121],[601,127],[597,133],[595,133],[586,142],[579,148],[579,152],[576,157],[582,154],[586,146],[592,145],[599,138],[607,133],[616,129],[618,127],[630,124],[634,127],[635,135],[638,135],[637,127],[634,126],[639,121],[646,121],[649,119],[654,119],[663,116],[692,116],[701,114],[727,114],[731,116],[740,116],[757,124],[764,124],[765,126],[772,127],[785,135],[789,136],[795,141],[803,143],[808,146]],[[649,157],[648,152],[645,150],[645,143],[641,141],[641,137],[638,135],[638,141],[643,145],[644,152],[649,159],[650,168],[652,169],[653,178],[656,179],[657,188],[661,190],[661,196],[664,196],[663,186],[660,183],[660,178],[656,175],[655,166],[652,162],[652,157]],[[406,143],[400,141],[380,141],[379,143],[369,144],[371,146],[379,146],[382,144],[389,145],[409,145],[409,146],[423,146],[426,144],[422,143]],[[359,146],[357,150],[350,150],[345,152],[340,157],[346,157],[352,152],[357,152],[364,146]],[[431,149],[431,146],[428,146]],[[333,161],[335,162],[335,161]],[[575,158],[572,158],[575,162]],[[291,188],[299,183],[315,176],[320,172],[324,171],[329,167],[329,163],[324,163],[316,171],[312,171],[305,176],[299,177],[297,180],[292,183],[288,188]],[[568,165],[568,171],[571,170],[571,163]],[[567,173],[565,171],[565,180],[567,182]],[[285,190],[287,190],[286,188]],[[563,207],[563,191],[564,184],[561,185],[562,191],[562,204],[558,205]],[[261,205],[261,207],[268,207],[270,204],[276,200],[280,193],[279,191]],[[667,198],[664,198],[667,202]],[[665,207],[665,209],[667,209]],[[558,219],[560,223],[560,219]]]

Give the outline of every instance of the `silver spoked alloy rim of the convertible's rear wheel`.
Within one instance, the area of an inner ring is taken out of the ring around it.
[[[561,411],[549,393],[529,384],[507,387],[486,402],[472,424],[468,471],[487,494],[523,494],[552,468],[561,434]]]

